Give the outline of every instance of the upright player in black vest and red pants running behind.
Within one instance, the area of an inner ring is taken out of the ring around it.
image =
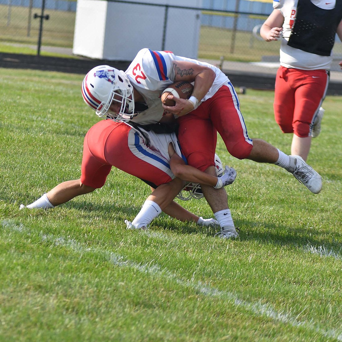
[[[274,116],[283,133],[293,133],[291,154],[306,160],[321,130],[336,33],[342,40],[342,2],[280,0],[273,8],[260,35],[267,42],[283,38]]]

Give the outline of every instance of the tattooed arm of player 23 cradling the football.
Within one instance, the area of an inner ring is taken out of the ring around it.
[[[176,102],[175,106],[163,105],[163,108],[176,116],[183,116],[198,107],[199,101],[207,94],[216,74],[211,68],[188,61],[173,61],[175,71],[174,81],[194,82],[194,90],[189,100],[170,96]]]

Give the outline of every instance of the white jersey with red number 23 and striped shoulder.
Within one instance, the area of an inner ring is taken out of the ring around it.
[[[229,82],[228,77],[214,65],[199,62],[191,58],[180,57],[172,52],[142,49],[125,71],[133,87],[144,97],[148,109],[139,113],[131,121],[139,124],[158,122],[164,109],[161,105],[161,94],[170,84],[174,83],[174,61],[188,61],[198,65],[205,65],[215,71],[216,78],[208,93],[200,102],[208,100],[218,89]]]

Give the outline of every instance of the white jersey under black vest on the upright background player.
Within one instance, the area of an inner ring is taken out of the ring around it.
[[[329,10],[335,7],[336,0],[311,0],[311,2],[319,8]],[[297,5],[298,0],[273,1],[273,8],[279,10],[284,16],[284,24],[282,26],[282,37],[284,39],[282,39],[280,46],[280,65],[286,68],[302,70],[329,70],[332,56],[320,56],[287,45],[297,14]]]

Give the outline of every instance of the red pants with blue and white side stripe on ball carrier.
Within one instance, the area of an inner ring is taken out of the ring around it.
[[[217,132],[228,152],[238,159],[248,157],[253,148],[231,82],[222,86],[196,110],[180,117],[178,122],[178,140],[188,164],[201,171],[215,165]]]

